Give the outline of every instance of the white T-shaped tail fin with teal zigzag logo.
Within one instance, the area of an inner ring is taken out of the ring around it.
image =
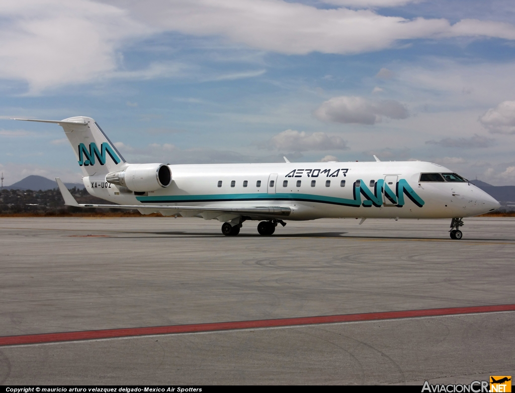
[[[33,120],[59,124],[70,141],[84,176],[102,175],[124,169],[126,161],[95,120],[79,116],[64,120]]]

